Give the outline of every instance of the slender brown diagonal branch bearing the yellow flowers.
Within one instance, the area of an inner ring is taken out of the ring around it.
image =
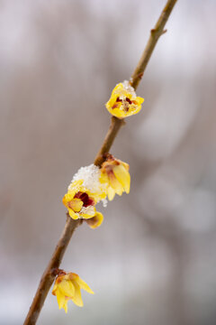
[[[158,38],[165,32],[164,26],[166,24],[166,21],[169,17],[169,15],[172,12],[172,9],[175,5],[177,0],[168,0],[166,3],[165,8],[163,9],[162,13],[159,16],[159,19],[155,25],[155,27],[151,30],[150,36],[148,39],[147,46],[139,60],[139,63],[137,65],[137,68],[134,70],[132,76],[130,85],[133,88],[137,88],[139,85],[139,81],[143,76],[143,73],[147,67],[148,60],[152,54],[152,51],[154,50]],[[110,128],[107,132],[107,135],[105,136],[105,139],[103,141],[103,145],[97,153],[94,164],[97,166],[100,166],[103,163],[104,160],[104,153],[108,153],[110,151],[110,148],[112,146],[112,143],[118,134],[121,125],[124,124],[124,121],[112,116],[112,123],[110,125]],[[47,266],[46,270],[41,276],[40,284],[38,287],[37,292],[35,293],[33,302],[31,303],[30,311],[28,312],[28,315],[26,317],[26,320],[24,321],[24,325],[33,325],[36,323],[40,310],[43,306],[43,303],[47,297],[47,294],[49,292],[50,286],[53,283],[57,269],[61,263],[61,260],[63,258],[63,255],[65,254],[65,251],[67,249],[67,245],[76,229],[77,226],[79,226],[82,223],[82,220],[74,220],[67,215],[67,222],[65,225],[65,228],[62,232],[62,235],[60,239],[58,240],[58,245],[56,246],[56,249],[49,261],[49,265]]]

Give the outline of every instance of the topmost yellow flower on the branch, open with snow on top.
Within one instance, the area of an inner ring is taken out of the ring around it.
[[[124,118],[139,113],[143,101],[144,98],[137,97],[134,88],[125,80],[113,88],[111,98],[105,106],[112,116]]]

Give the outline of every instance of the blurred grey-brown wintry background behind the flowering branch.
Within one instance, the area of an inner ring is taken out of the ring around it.
[[[0,3],[0,324],[22,324],[64,228],[61,199],[93,163],[104,103],[130,79],[166,0]],[[214,0],[181,0],[138,88],[145,102],[112,153],[131,190],[76,230],[62,268],[94,290],[38,324],[216,323]]]

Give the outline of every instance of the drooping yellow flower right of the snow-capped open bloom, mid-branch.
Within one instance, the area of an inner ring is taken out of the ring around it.
[[[102,183],[107,183],[107,195],[109,200],[113,200],[115,193],[121,195],[122,192],[130,192],[129,164],[115,159],[112,154],[107,154],[106,161],[101,167]]]

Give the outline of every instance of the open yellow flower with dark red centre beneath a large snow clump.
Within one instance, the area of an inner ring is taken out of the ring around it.
[[[73,181],[62,202],[71,218],[93,218],[96,214],[94,193],[82,186],[83,180]]]

